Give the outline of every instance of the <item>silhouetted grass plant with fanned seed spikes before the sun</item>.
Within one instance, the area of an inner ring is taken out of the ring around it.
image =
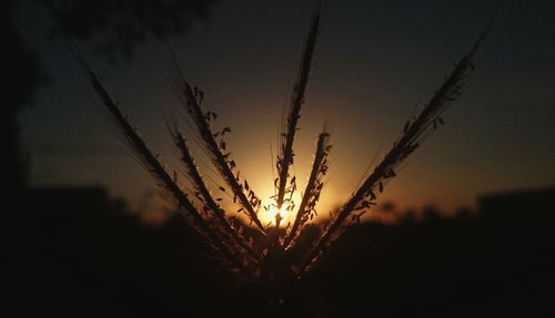
[[[231,133],[231,129],[223,127],[223,130],[214,131],[212,123],[218,119],[218,115],[203,109],[204,93],[185,81],[176,59],[174,59],[175,74],[171,79],[171,84],[191,126],[194,129],[192,139],[201,146],[215,171],[225,182],[225,186],[216,185],[219,191],[233,198],[236,211],[244,213],[250,219],[250,228],[239,225],[236,219],[231,216],[232,214],[220,205],[221,198],[214,197],[210,185],[205,183],[195,164],[185,136],[176,125],[168,124],[168,129],[181,155],[184,173],[180,175],[178,172],[173,172],[173,176],[171,176],[160,162],[159,156],[147,146],[128,116],[122,114],[119,104],[111,98],[99,76],[90,70],[73,47],[70,45],[70,49],[100,96],[104,114],[115,135],[131,150],[138,162],[158,182],[160,187],[175,199],[184,223],[201,236],[221,259],[225,260],[232,273],[236,273],[250,281],[262,280],[268,284],[280,284],[276,281],[299,279],[315,266],[333,243],[340,238],[344,229],[353,223],[360,222],[362,215],[376,204],[377,196],[384,191],[386,184],[396,176],[400,164],[420,147],[431,132],[444,124],[442,114],[461,94],[467,75],[474,68],[472,59],[488,28],[481,34],[471,51],[455,63],[454,70],[445,78],[420,114],[406,122],[397,141],[373,167],[360,187],[324,225],[319,225],[313,222],[313,218],[316,215],[316,204],[324,186],[323,178],[329,168],[327,155],[332,148],[330,133],[324,130],[319,135],[314,161],[299,206],[292,199],[297,185],[295,175],[291,174],[290,171],[294,162],[293,144],[299,130],[312,58],[320,32],[320,12],[316,12],[312,18],[293,95],[289,106],[284,110],[286,120],[280,135],[280,148],[275,163],[278,168],[278,177],[274,179],[276,194],[272,197],[273,203],[270,206],[262,206],[262,201],[249,186],[246,179],[241,176],[231,157],[231,152],[224,141],[225,134]],[[178,182],[179,176],[185,177],[193,189],[184,191]],[[276,211],[286,208],[294,213],[293,224],[287,224],[284,229],[280,228],[283,220],[280,213],[275,214],[273,224],[262,224],[259,212],[261,208],[270,209],[272,207]],[[304,230],[309,227],[317,228],[316,239],[306,240],[303,238],[305,232],[311,232],[313,235],[312,229]],[[301,258],[290,257],[289,254],[292,250],[299,255],[300,249],[302,249],[301,254],[303,255]]]

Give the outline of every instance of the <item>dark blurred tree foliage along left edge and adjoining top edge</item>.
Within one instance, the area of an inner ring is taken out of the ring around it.
[[[213,0],[33,0],[52,14],[52,34],[91,43],[93,50],[115,61],[129,59],[149,35],[169,39],[185,33],[196,18],[206,20]],[[1,1],[2,83],[0,127],[4,136],[2,187],[18,191],[26,184],[19,141],[19,110],[33,102],[43,70],[13,20],[18,2]],[[38,25],[42,28],[44,25]]]

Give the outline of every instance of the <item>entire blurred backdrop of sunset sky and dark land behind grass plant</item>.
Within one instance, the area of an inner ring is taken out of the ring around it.
[[[226,275],[180,226],[98,114],[64,41],[79,45],[149,145],[175,166],[163,122],[178,114],[167,80],[171,48],[186,79],[204,91],[205,107],[231,126],[226,141],[242,174],[269,199],[281,113],[314,1],[1,6],[2,310],[16,317],[555,311],[552,1],[324,1],[294,166],[304,181],[326,122],[334,148],[320,220],[351,195],[492,18],[495,24],[446,125],[280,307]]]

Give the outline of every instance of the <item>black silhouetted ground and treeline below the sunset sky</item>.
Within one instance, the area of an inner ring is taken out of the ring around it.
[[[2,317],[555,314],[555,188],[484,196],[453,218],[354,226],[280,306],[228,275],[176,218],[144,227],[94,187],[24,197],[3,242]]]

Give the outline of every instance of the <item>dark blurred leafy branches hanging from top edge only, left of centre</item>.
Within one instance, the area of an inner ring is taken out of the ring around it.
[[[213,0],[36,0],[54,17],[54,34],[89,41],[110,59],[130,58],[148,37],[165,40],[206,20]]]

